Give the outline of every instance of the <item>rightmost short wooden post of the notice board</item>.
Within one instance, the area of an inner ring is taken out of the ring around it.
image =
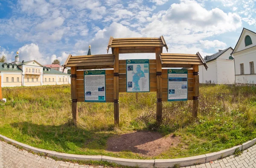
[[[193,65],[193,118],[197,118],[198,114],[198,96],[199,96],[199,76],[198,65]]]

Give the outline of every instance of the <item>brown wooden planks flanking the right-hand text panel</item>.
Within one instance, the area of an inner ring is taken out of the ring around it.
[[[168,101],[168,74],[162,69],[163,101]],[[188,70],[188,100],[193,100],[193,70]]]

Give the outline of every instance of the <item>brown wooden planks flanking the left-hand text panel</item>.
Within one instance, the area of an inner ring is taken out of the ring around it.
[[[84,71],[78,70],[76,77],[77,101],[84,102]],[[114,71],[106,70],[106,102],[114,102]]]

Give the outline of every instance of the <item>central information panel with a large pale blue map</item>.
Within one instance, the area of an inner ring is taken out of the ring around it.
[[[149,92],[149,59],[126,60],[126,91]]]

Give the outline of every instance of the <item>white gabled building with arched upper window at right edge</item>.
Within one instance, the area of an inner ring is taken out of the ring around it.
[[[236,84],[255,84],[256,33],[243,28],[232,55],[235,60]]]

